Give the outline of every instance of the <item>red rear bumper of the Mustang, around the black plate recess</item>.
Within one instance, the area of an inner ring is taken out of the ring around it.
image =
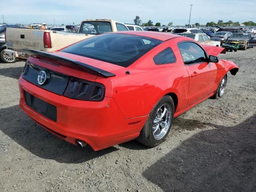
[[[100,150],[138,137],[148,116],[125,119],[116,102],[105,97],[101,102],[80,101],[43,90],[22,77],[19,79],[20,108],[40,126],[77,145],[82,140]],[[24,100],[24,90],[57,107],[54,122],[36,112]]]

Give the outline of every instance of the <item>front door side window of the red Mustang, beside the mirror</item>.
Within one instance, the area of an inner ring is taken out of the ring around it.
[[[185,65],[206,62],[204,50],[195,43],[183,42],[178,44]]]

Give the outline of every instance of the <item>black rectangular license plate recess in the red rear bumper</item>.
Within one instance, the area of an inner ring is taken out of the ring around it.
[[[49,118],[50,120],[57,121],[57,108],[56,106],[47,103],[28,92],[24,91],[25,102],[28,106],[34,109],[36,112]]]

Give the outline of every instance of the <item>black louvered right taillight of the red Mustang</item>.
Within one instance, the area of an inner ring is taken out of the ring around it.
[[[97,82],[70,77],[63,95],[76,100],[102,101],[105,95],[105,86]]]

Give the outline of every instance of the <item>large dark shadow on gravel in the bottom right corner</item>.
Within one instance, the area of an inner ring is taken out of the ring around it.
[[[143,176],[164,191],[254,192],[256,115],[202,131],[150,166]]]

